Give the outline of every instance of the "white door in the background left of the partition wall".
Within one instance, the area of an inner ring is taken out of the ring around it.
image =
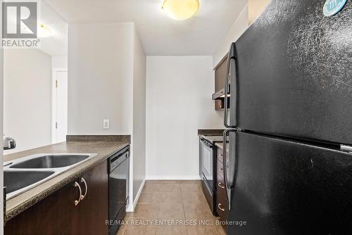
[[[68,116],[68,72],[63,70],[56,71],[56,110],[54,122],[54,142],[66,141],[67,116]]]

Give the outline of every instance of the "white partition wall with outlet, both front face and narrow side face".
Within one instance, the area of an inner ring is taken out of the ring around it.
[[[132,135],[133,210],[146,171],[146,55],[134,23],[70,24],[68,42],[68,134]]]

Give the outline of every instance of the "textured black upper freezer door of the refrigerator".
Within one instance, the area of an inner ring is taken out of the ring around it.
[[[324,3],[272,0],[237,40],[230,126],[352,144],[352,3]]]

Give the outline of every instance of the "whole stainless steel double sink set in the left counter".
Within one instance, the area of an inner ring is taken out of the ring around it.
[[[96,153],[34,154],[4,163],[6,198],[12,198],[94,158]]]

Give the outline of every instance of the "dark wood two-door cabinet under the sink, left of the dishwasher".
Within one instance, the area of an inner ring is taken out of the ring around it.
[[[86,185],[81,179],[84,179]],[[75,182],[80,184],[82,194]],[[108,234],[108,170],[104,161],[6,222],[5,234]]]

